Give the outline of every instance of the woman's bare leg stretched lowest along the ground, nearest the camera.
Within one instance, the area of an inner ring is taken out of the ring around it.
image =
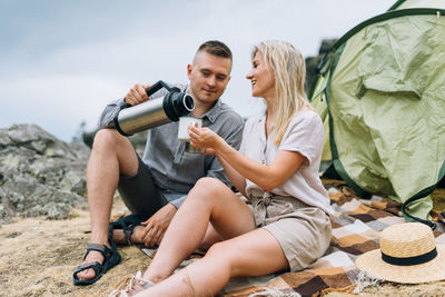
[[[230,277],[258,276],[288,268],[275,237],[256,229],[215,244],[202,259],[136,296],[214,296]]]

